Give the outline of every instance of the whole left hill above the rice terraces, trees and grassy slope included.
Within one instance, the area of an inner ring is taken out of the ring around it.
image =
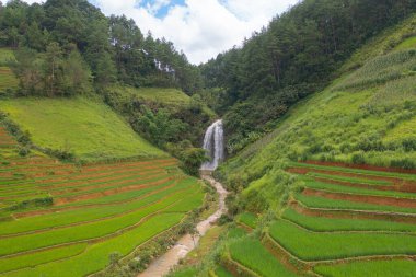
[[[0,1],[0,69],[1,117],[30,131],[37,147],[51,148],[48,153],[60,159],[119,159],[147,152],[129,153],[131,148],[124,147],[128,142],[104,143],[97,151],[83,147],[89,136],[94,141],[93,135],[76,134],[85,123],[94,125],[100,114],[94,108],[108,112],[105,105],[142,138],[182,160],[188,173],[196,174],[205,159],[198,147],[216,115],[195,94],[201,89],[199,68],[171,42],[143,35],[125,15],[107,18],[86,0],[31,5]],[[24,120],[32,113],[36,116]],[[57,134],[58,128],[50,128],[62,125],[73,129]],[[108,138],[103,130],[111,131],[112,124],[103,122],[101,127],[93,132]]]

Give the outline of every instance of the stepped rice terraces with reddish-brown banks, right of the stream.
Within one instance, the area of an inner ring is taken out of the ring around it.
[[[230,241],[217,276],[416,276],[416,172],[294,162],[287,171],[303,186],[261,241]]]

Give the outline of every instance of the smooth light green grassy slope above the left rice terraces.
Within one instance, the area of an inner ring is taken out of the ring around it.
[[[0,101],[36,146],[73,152],[83,160],[166,154],[140,138],[109,107],[86,97]]]

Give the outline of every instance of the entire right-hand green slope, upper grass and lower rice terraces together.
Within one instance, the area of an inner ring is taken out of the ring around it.
[[[415,25],[370,39],[221,165],[234,220],[211,275],[415,275]]]

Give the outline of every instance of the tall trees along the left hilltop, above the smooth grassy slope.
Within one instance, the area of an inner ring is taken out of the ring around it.
[[[19,49],[13,69],[24,94],[72,95],[115,82],[189,94],[201,86],[198,68],[171,42],[145,37],[132,20],[106,18],[86,0],[0,2],[0,47]]]

